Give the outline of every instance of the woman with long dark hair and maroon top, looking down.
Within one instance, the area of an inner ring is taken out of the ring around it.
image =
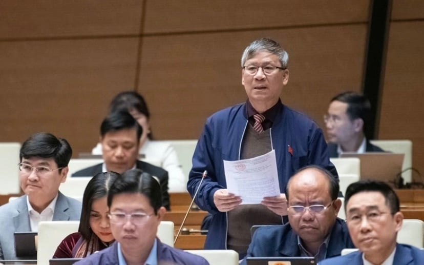
[[[114,241],[109,225],[107,195],[109,186],[117,177],[118,173],[106,172],[90,179],[82,197],[78,232],[62,240],[53,258],[85,258],[109,247]]]

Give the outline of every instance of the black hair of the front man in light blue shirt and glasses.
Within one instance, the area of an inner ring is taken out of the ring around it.
[[[109,208],[112,205],[113,197],[122,193],[140,193],[146,196],[155,214],[162,206],[162,191],[159,181],[140,169],[125,171],[121,177],[113,182],[108,192]]]

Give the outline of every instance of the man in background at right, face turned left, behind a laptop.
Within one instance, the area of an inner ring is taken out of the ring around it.
[[[331,99],[328,114],[324,115],[330,157],[342,152],[384,152],[365,137],[370,112],[370,101],[362,94],[348,91]]]

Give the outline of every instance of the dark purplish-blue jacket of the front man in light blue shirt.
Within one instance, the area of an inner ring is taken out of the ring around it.
[[[208,265],[209,263],[203,257],[188,253],[167,244],[162,243],[159,239],[158,242],[158,265]],[[102,265],[115,265],[118,262],[118,243],[113,243],[111,247],[104,249],[100,252],[91,254],[89,257],[84,258],[75,264],[102,264]],[[140,263],[141,264],[141,263]]]

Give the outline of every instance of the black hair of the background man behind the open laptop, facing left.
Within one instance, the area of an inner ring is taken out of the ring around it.
[[[334,96],[330,103],[333,101],[341,101],[348,105],[346,114],[350,120],[361,118],[364,121],[363,131],[366,132],[365,127],[371,119],[371,103],[363,94],[346,91]]]

